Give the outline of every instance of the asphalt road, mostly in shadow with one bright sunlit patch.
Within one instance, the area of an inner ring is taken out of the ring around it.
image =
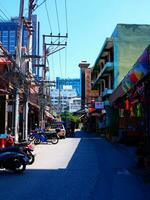
[[[76,133],[57,145],[37,145],[23,174],[0,170],[0,200],[148,200],[148,189],[128,168],[134,149]]]

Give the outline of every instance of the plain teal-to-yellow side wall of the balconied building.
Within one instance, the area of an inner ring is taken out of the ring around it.
[[[116,88],[150,44],[150,25],[118,24],[112,38],[114,38],[114,86]]]

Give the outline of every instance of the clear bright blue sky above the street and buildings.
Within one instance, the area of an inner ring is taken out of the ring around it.
[[[38,3],[43,0],[38,0]],[[86,60],[94,64],[106,37],[111,36],[118,23],[150,24],[149,0],[66,0],[68,19],[68,45],[49,56],[50,79],[56,76],[79,78],[78,64]],[[7,15],[17,16],[19,13],[19,0],[0,1],[0,7],[7,11]],[[27,8],[28,0],[25,0]],[[58,34],[58,21],[55,0],[47,0],[52,33]],[[65,35],[66,15],[65,0],[57,0],[59,26],[61,35]],[[25,9],[25,12],[27,10]],[[41,23],[41,35],[50,33],[46,15],[45,4],[41,5],[35,14]],[[42,37],[41,37],[42,41]],[[42,44],[41,44],[42,48]]]

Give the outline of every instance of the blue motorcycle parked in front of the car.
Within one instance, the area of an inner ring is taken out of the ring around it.
[[[40,144],[41,142],[51,142],[52,144],[57,144],[59,137],[57,131],[54,133],[45,132],[42,129],[34,130],[29,136],[29,141],[34,141],[34,144]]]

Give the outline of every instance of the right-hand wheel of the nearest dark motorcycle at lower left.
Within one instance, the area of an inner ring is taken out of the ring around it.
[[[26,169],[26,163],[24,160],[19,158],[14,158],[12,170],[17,173],[21,173]]]

